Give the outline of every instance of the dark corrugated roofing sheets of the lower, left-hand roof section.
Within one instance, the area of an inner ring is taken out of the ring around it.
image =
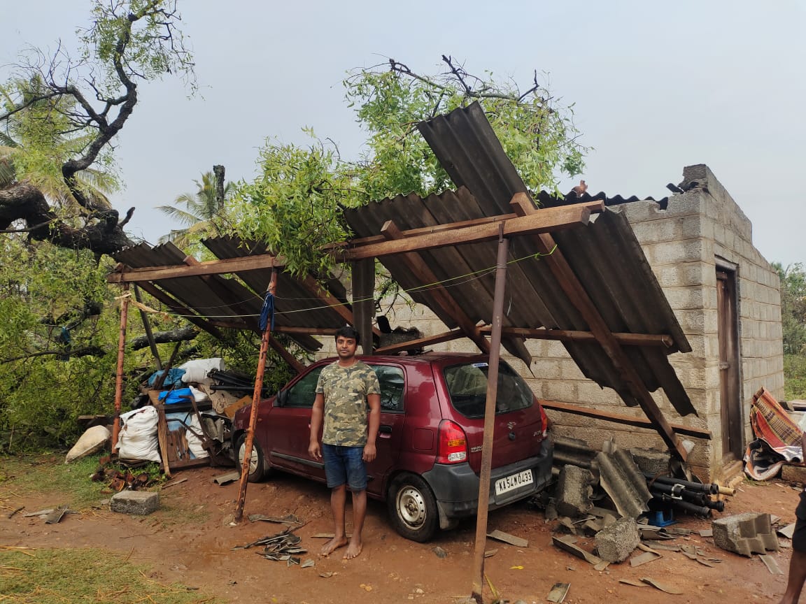
[[[242,258],[265,254],[264,246],[247,245],[235,238],[218,238],[205,242],[218,259]],[[151,247],[147,243],[121,250],[114,259],[131,268],[174,267],[185,263],[186,254],[172,243]],[[243,329],[259,332],[258,317],[263,306],[264,292],[271,279],[271,270],[239,271],[237,279],[223,275],[175,277],[156,279],[152,283],[169,296],[211,321],[240,323]],[[350,306],[343,286],[335,279],[328,283],[332,295]],[[275,324],[285,327],[338,329],[344,325],[343,316],[319,292],[280,271],[275,298]],[[322,344],[306,334],[290,335],[305,350],[318,350]]]

